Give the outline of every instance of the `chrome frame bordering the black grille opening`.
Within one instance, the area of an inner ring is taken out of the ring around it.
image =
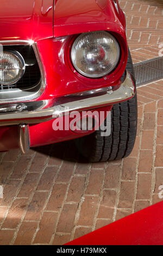
[[[0,44],[2,44],[2,45],[31,45],[33,47],[33,50],[34,50],[34,53],[35,53],[35,56],[37,59],[37,63],[40,68],[40,74],[41,74],[41,82],[35,86],[35,87],[39,86],[39,90],[37,90],[37,92],[29,93],[27,90],[27,92],[24,92],[24,95],[22,95],[20,97],[12,97],[10,99],[8,99],[8,96],[6,96],[2,100],[0,99],[0,103],[20,102],[20,101],[28,101],[28,100],[37,99],[37,97],[41,96],[41,94],[44,92],[45,87],[46,87],[45,71],[43,69],[41,56],[40,56],[39,49],[37,47],[37,43],[34,42],[33,40],[4,40],[4,41],[0,41]],[[35,88],[35,87],[33,87],[33,88]],[[3,94],[5,95],[8,93],[13,93],[13,95],[15,95],[15,93],[19,94],[22,92],[23,92],[23,90],[15,89],[15,90],[13,90],[13,92],[6,90],[6,92],[3,92]],[[1,94],[1,91],[0,91],[0,94]]]

